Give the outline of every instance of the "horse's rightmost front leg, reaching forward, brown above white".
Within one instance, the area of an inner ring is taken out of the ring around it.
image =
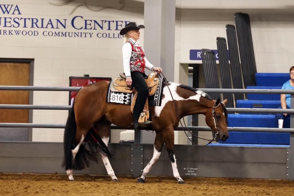
[[[167,132],[165,132],[166,136],[166,150],[168,152],[168,157],[171,160],[171,166],[173,167],[173,176],[178,180],[179,184],[185,184],[183,179],[181,178],[179,172],[178,172],[178,167],[176,163],[176,156],[175,156],[175,151],[174,151],[174,131],[173,129],[169,129]]]

